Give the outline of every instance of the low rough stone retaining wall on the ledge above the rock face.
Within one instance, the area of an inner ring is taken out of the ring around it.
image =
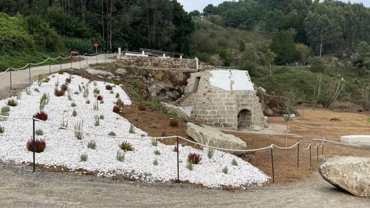
[[[187,59],[187,58],[121,56],[119,61],[122,64],[132,67],[196,69],[196,59]],[[199,66],[199,68],[201,67]]]

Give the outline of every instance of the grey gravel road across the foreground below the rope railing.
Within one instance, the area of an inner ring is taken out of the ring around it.
[[[288,185],[222,191],[31,171],[0,162],[1,207],[370,207],[369,198],[339,191],[319,174]]]

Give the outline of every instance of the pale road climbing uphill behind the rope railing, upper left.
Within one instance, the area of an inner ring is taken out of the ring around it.
[[[112,55],[106,55],[106,57],[110,57]],[[87,58],[87,61],[86,61]],[[81,67],[88,66],[88,64],[94,64],[94,63],[104,63],[104,62],[111,62],[113,61],[112,58],[105,58],[104,55],[98,55],[97,56],[81,56]],[[79,68],[80,67],[80,61],[72,62],[72,68]],[[51,65],[50,70],[51,73],[57,72],[60,70],[60,68],[71,68],[71,63],[65,63],[65,64],[56,64]],[[31,66],[31,81],[35,80],[36,77],[39,74],[49,74],[49,65],[44,66]],[[10,72],[7,71],[6,73],[0,74],[0,91],[6,91],[10,90]],[[18,85],[26,84],[30,82],[30,72],[28,68],[24,70],[18,70],[18,71],[12,71],[11,72],[11,81],[12,86],[14,88],[17,88]]]

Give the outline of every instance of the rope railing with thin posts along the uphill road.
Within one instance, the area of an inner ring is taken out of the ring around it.
[[[11,71],[12,70],[13,71],[18,71],[18,70],[22,70],[22,69],[25,69],[25,68],[28,67],[28,71],[29,71],[28,73],[29,73],[29,76],[30,76],[29,78],[30,78],[30,83],[31,83],[31,67],[30,67],[30,65],[37,66],[37,65],[40,65],[40,64],[45,63],[48,60],[57,60],[59,58],[61,58],[61,59],[68,59],[68,58],[76,58],[76,57],[81,57],[81,56],[86,56],[86,64],[88,64],[87,56],[96,56],[96,63],[98,63],[98,56],[99,55],[104,55],[104,62],[106,61],[106,58],[112,58],[112,57],[114,58],[116,56],[116,53],[110,53],[110,54],[112,54],[112,56],[108,56],[108,57],[106,57],[107,53],[102,53],[102,54],[100,54],[100,53],[94,53],[94,54],[85,53],[83,55],[78,54],[78,56],[72,56],[72,55],[70,55],[68,57],[58,56],[57,58],[50,58],[50,57],[48,57],[44,61],[41,61],[40,63],[28,63],[24,67],[21,67],[21,68],[12,68],[12,67],[9,67],[5,71],[1,72],[0,75],[6,73],[8,71],[10,72],[10,90],[12,90],[12,83],[11,83]],[[108,54],[108,55],[110,55],[110,54]],[[80,58],[79,61],[80,61],[80,67],[81,67],[81,58]],[[72,59],[71,59],[71,68],[72,68]],[[62,69],[62,63],[60,63],[60,69]],[[49,74],[51,74],[51,63],[49,63]]]

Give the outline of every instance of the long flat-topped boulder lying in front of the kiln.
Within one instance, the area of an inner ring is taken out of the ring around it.
[[[206,126],[195,125],[193,123],[186,124],[186,134],[193,138],[194,141],[209,145],[212,147],[226,148],[232,150],[246,150],[247,144],[245,141],[231,134],[224,134],[221,131]],[[231,154],[240,155],[243,152],[228,151]]]

